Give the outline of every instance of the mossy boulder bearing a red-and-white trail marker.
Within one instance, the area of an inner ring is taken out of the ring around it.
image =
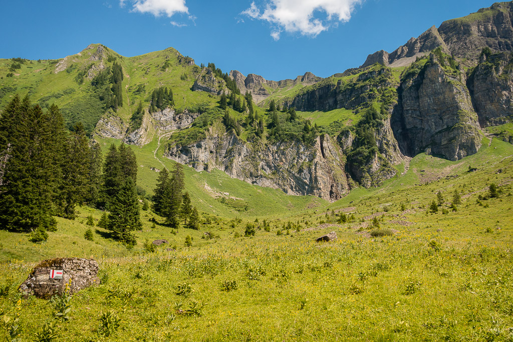
[[[62,279],[50,278],[52,270],[62,270]],[[69,284],[69,292],[75,293],[93,284],[100,284],[98,278],[100,267],[94,259],[55,258],[43,260],[29,274],[27,280],[19,286],[18,291],[24,297],[34,295],[48,299],[55,294],[62,294]]]

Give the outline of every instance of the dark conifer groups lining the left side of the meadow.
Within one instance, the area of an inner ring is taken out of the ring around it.
[[[183,193],[184,175],[177,164],[171,176],[162,171],[154,211],[176,228],[198,229],[199,214]],[[127,247],[142,229],[136,188],[137,162],[132,149],[111,145],[102,157],[82,124],[71,131],[57,106],[45,112],[28,96],[15,95],[0,120],[0,229],[32,232],[46,239],[56,230],[53,216],[76,217],[77,205],[106,210],[102,227]],[[46,237],[45,237],[46,234]],[[36,241],[40,242],[40,241]]]

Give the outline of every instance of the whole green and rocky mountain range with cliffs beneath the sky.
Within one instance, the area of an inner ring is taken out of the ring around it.
[[[124,57],[91,44],[60,60],[2,59],[0,105],[28,94],[97,139],[156,142],[155,156],[197,171],[333,201],[405,172],[421,152],[459,160],[485,134],[513,141],[512,18],[513,2],[497,3],[327,78],[223,73],[173,48]]]

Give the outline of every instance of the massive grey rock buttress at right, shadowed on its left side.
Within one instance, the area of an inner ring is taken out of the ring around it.
[[[431,54],[423,72],[403,81],[399,93],[396,136],[406,154],[427,151],[458,160],[478,151],[482,135],[463,73],[449,72]]]

